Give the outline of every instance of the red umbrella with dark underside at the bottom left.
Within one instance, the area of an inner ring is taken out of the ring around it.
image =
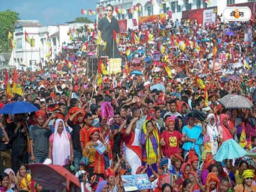
[[[33,175],[33,180],[40,183],[44,189],[62,190],[71,188],[80,191],[80,183],[77,177],[68,172],[63,166],[53,164],[28,164]],[[77,191],[76,190],[76,191]],[[84,191],[88,191],[84,189]]]

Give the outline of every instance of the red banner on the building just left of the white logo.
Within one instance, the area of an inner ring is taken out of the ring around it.
[[[204,10],[212,10],[215,14],[217,13],[217,6],[212,6],[209,8],[202,8],[198,10],[188,10],[182,12],[182,19],[189,19],[189,20],[197,20],[198,24],[203,24],[203,13]]]

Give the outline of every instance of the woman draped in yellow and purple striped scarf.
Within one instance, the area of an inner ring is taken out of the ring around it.
[[[151,164],[153,170],[157,170],[156,163],[160,158],[159,132],[152,120],[146,120],[143,124],[143,131],[140,136],[142,147],[142,165]],[[147,169],[148,177],[152,175],[151,170]]]

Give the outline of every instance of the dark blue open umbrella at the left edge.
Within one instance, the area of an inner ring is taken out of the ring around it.
[[[18,113],[31,113],[38,111],[31,102],[17,101],[8,103],[0,110],[0,114],[18,114]]]

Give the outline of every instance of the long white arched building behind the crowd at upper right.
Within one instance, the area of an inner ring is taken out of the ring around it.
[[[102,7],[107,4],[114,6],[114,15],[116,19],[127,19],[127,28],[132,28],[132,19],[148,15],[158,15],[159,13],[167,13],[172,11],[172,20],[182,19],[182,12],[187,10],[196,10],[199,8],[207,8],[217,6],[218,15],[221,15],[224,8],[229,4],[248,3],[255,0],[209,0],[209,4],[204,3],[203,0],[99,0],[97,7],[100,8],[100,12],[104,13]],[[133,10],[134,6],[140,4],[140,12],[129,13],[129,8]],[[124,10],[122,14],[115,13],[115,6],[118,6],[119,10]]]

